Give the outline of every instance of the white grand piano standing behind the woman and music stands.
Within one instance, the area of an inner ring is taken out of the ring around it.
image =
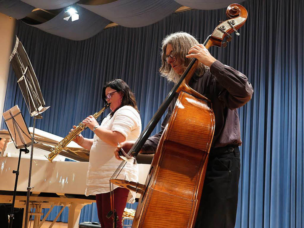
[[[33,128],[29,128],[32,134]],[[10,140],[9,132],[0,131],[0,137]],[[95,196],[86,197],[85,182],[88,170],[89,152],[71,142],[67,148],[58,155],[52,163],[45,156],[50,153],[50,149],[63,138],[57,135],[35,129],[35,145],[33,149],[33,163],[31,175],[31,191],[29,202],[29,215],[34,216],[33,227],[40,228],[54,206],[63,206],[57,214],[50,227],[54,225],[65,207],[69,208],[68,228],[78,228],[80,212],[83,206],[95,202]],[[28,148],[31,149],[30,147]],[[16,149],[13,142],[7,143],[7,148],[0,152],[0,203],[12,203],[13,190],[16,175],[12,173],[17,170],[19,149]],[[26,189],[29,177],[30,153],[22,152],[19,177],[17,185],[17,195],[15,201],[16,208],[26,207]],[[66,158],[77,162],[64,161]],[[152,156],[147,156],[143,162],[138,161],[139,183],[145,183]],[[146,163],[146,164],[140,164]],[[138,194],[137,198],[140,197]],[[46,216],[43,216],[42,209],[49,208]],[[31,210],[30,209],[34,209]],[[29,217],[29,216],[28,216]],[[23,214],[24,227],[25,209]]]

